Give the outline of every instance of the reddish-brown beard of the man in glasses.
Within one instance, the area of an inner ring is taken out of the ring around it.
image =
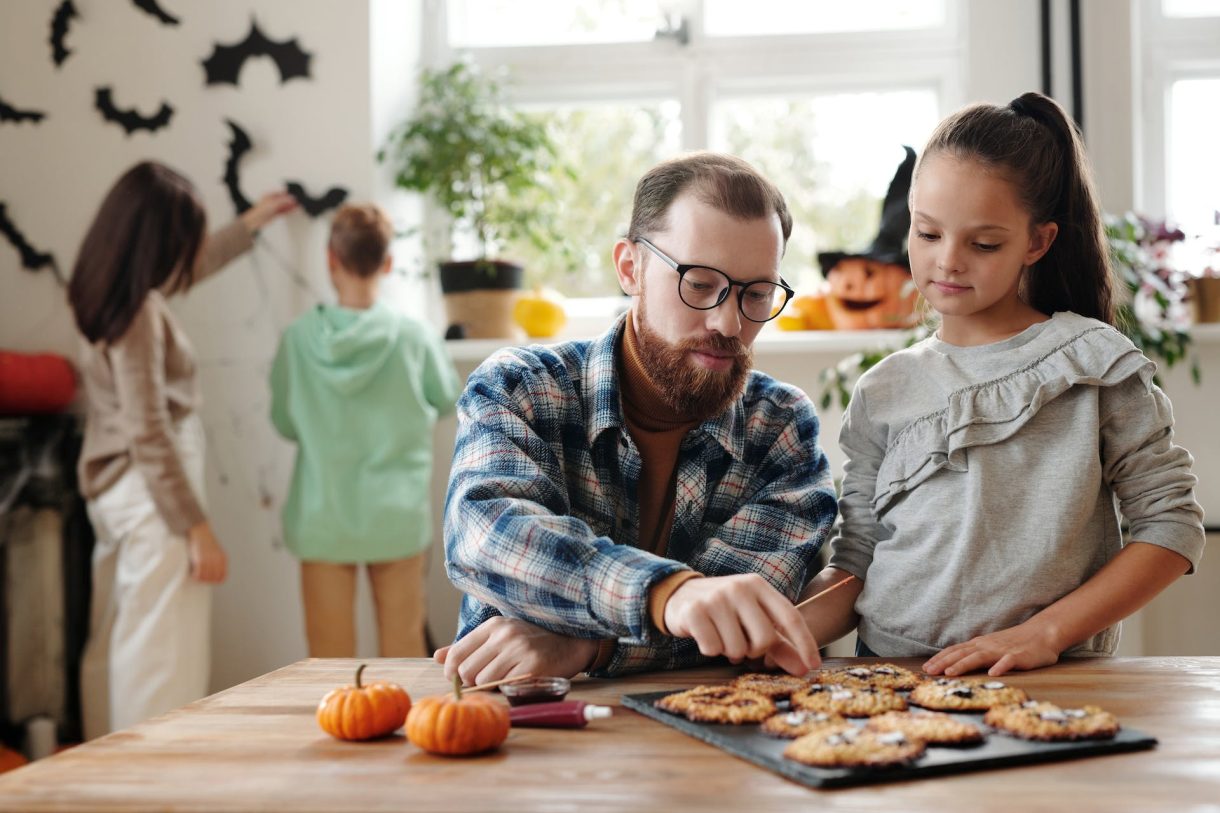
[[[703,339],[683,339],[670,344],[648,325],[644,298],[639,298],[636,322],[639,356],[644,370],[660,391],[661,399],[678,415],[705,421],[722,414],[742,394],[754,355],[736,337],[711,333]],[[691,358],[694,350],[732,354],[728,370],[709,370]]]

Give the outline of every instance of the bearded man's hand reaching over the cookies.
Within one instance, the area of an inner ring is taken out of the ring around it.
[[[733,663],[766,658],[793,675],[822,663],[800,613],[758,574],[683,582],[665,603],[665,626]]]

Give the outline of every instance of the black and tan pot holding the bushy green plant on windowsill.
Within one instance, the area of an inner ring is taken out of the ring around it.
[[[440,264],[448,330],[460,338],[523,338],[512,319],[525,269],[503,260]]]

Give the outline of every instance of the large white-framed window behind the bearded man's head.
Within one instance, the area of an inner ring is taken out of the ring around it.
[[[795,226],[782,273],[863,249],[902,160],[963,101],[960,0],[432,0],[425,59],[506,67],[550,115],[575,178],[555,178],[575,270],[509,247],[570,297],[619,293],[611,247],[636,181],[684,150],[734,153],[775,181]]]

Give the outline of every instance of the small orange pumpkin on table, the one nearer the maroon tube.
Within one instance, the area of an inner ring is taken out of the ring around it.
[[[428,753],[448,757],[482,753],[509,736],[509,708],[487,695],[462,696],[454,678],[453,695],[425,697],[406,715],[406,739]]]

